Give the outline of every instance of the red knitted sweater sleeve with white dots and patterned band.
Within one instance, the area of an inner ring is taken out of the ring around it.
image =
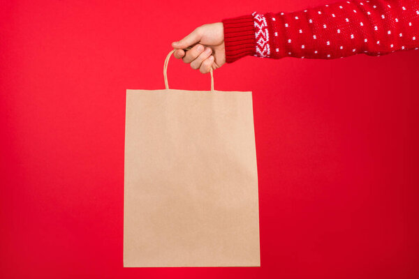
[[[226,61],[253,55],[335,59],[419,48],[419,0],[352,0],[223,20]]]

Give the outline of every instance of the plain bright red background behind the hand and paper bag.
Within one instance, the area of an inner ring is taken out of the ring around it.
[[[419,277],[419,52],[216,70],[253,91],[261,267],[123,269],[126,89],[200,24],[327,2],[1,2],[1,278]]]

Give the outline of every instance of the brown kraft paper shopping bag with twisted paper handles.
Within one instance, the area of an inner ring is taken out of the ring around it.
[[[172,52],[126,91],[124,266],[260,266],[251,92],[169,89]]]

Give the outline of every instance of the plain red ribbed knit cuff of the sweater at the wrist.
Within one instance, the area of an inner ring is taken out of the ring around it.
[[[255,27],[252,15],[222,20],[226,62],[233,63],[247,55],[256,54]]]

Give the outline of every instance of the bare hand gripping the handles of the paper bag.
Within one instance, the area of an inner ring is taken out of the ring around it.
[[[210,72],[210,68],[220,68],[226,63],[223,23],[204,24],[179,42],[172,43],[172,47],[176,49],[175,58],[182,58],[203,74]],[[185,52],[186,47],[191,49]]]

